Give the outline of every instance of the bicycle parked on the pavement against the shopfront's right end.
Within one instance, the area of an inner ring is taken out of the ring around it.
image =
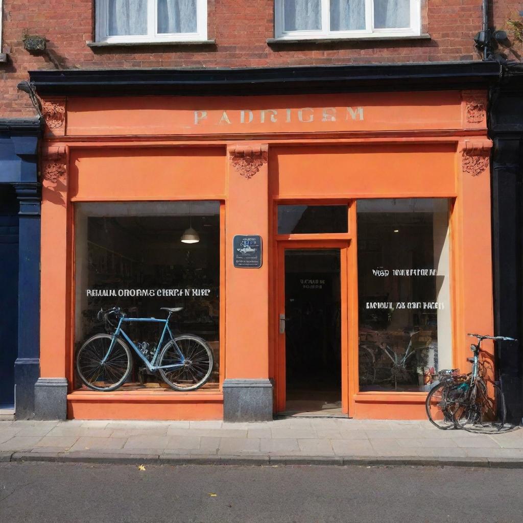
[[[428,394],[425,408],[433,425],[440,429],[463,428],[471,432],[491,433],[503,429],[506,422],[505,397],[496,382],[487,382],[480,373],[481,342],[484,339],[517,342],[506,336],[468,334],[477,339],[471,344],[472,372],[459,369],[438,373],[438,383]]]

